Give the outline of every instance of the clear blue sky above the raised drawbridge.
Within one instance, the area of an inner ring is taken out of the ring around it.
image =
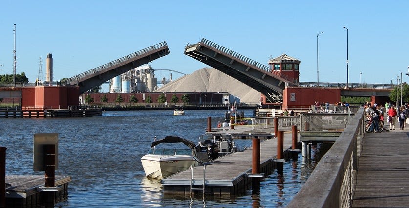
[[[16,73],[29,81],[40,57],[45,79],[47,53],[60,80],[163,41],[170,54],[151,67],[190,74],[208,66],[185,46],[205,38],[266,66],[281,54],[299,59],[301,82],[317,81],[318,39],[320,82],[345,83],[347,58],[349,83],[396,84],[401,72],[409,82],[407,8],[408,0],[2,0],[0,74],[13,74],[16,24]],[[170,73],[182,76],[155,75]]]

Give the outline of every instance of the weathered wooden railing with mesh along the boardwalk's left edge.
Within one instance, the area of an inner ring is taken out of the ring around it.
[[[361,107],[287,208],[351,207],[363,127],[364,108]]]

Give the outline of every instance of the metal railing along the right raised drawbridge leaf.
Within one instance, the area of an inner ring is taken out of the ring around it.
[[[206,45],[206,46],[213,47],[213,48],[215,48],[215,49],[217,49],[217,50],[219,50],[219,51],[221,51],[223,53],[229,54],[229,55],[231,55],[231,56],[233,56],[233,57],[235,57],[237,59],[240,59],[241,61],[244,61],[244,62],[246,62],[246,63],[248,63],[250,65],[253,65],[253,66],[255,66],[255,67],[259,68],[259,69],[262,69],[264,71],[267,71],[268,73],[270,73],[272,75],[278,76],[278,77],[280,77],[282,79],[285,79],[287,81],[290,81],[290,82],[294,81],[294,79],[292,77],[289,77],[288,75],[285,75],[285,74],[282,74],[282,73],[279,73],[279,72],[275,72],[275,71],[271,71],[270,67],[265,66],[265,65],[263,65],[261,63],[258,63],[257,61],[254,61],[254,60],[252,60],[250,58],[247,58],[246,56],[243,56],[243,55],[241,55],[241,54],[239,54],[237,52],[234,52],[234,51],[232,51],[232,50],[230,50],[230,49],[228,49],[226,47],[220,46],[220,45],[218,45],[218,44],[216,44],[216,43],[214,43],[212,41],[209,41],[207,39],[202,38],[200,43],[203,44],[203,45]],[[189,46],[189,44],[187,44],[186,46]]]

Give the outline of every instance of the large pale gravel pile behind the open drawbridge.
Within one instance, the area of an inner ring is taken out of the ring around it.
[[[174,80],[155,92],[229,92],[243,103],[260,102],[260,92],[214,68],[203,68]]]

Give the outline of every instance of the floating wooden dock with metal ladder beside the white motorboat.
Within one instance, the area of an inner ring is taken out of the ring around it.
[[[284,134],[284,151],[291,148],[292,134]],[[284,154],[285,156],[286,154]],[[277,156],[277,138],[268,139],[260,145],[260,172],[270,174],[277,166],[273,159]],[[247,176],[252,170],[252,148],[243,152],[236,152],[206,163],[205,194],[206,195],[235,195],[243,193],[251,185],[252,178]],[[164,193],[170,195],[190,195],[190,187],[203,188],[203,166],[174,174],[162,179]],[[194,190],[194,193],[203,193]]]

